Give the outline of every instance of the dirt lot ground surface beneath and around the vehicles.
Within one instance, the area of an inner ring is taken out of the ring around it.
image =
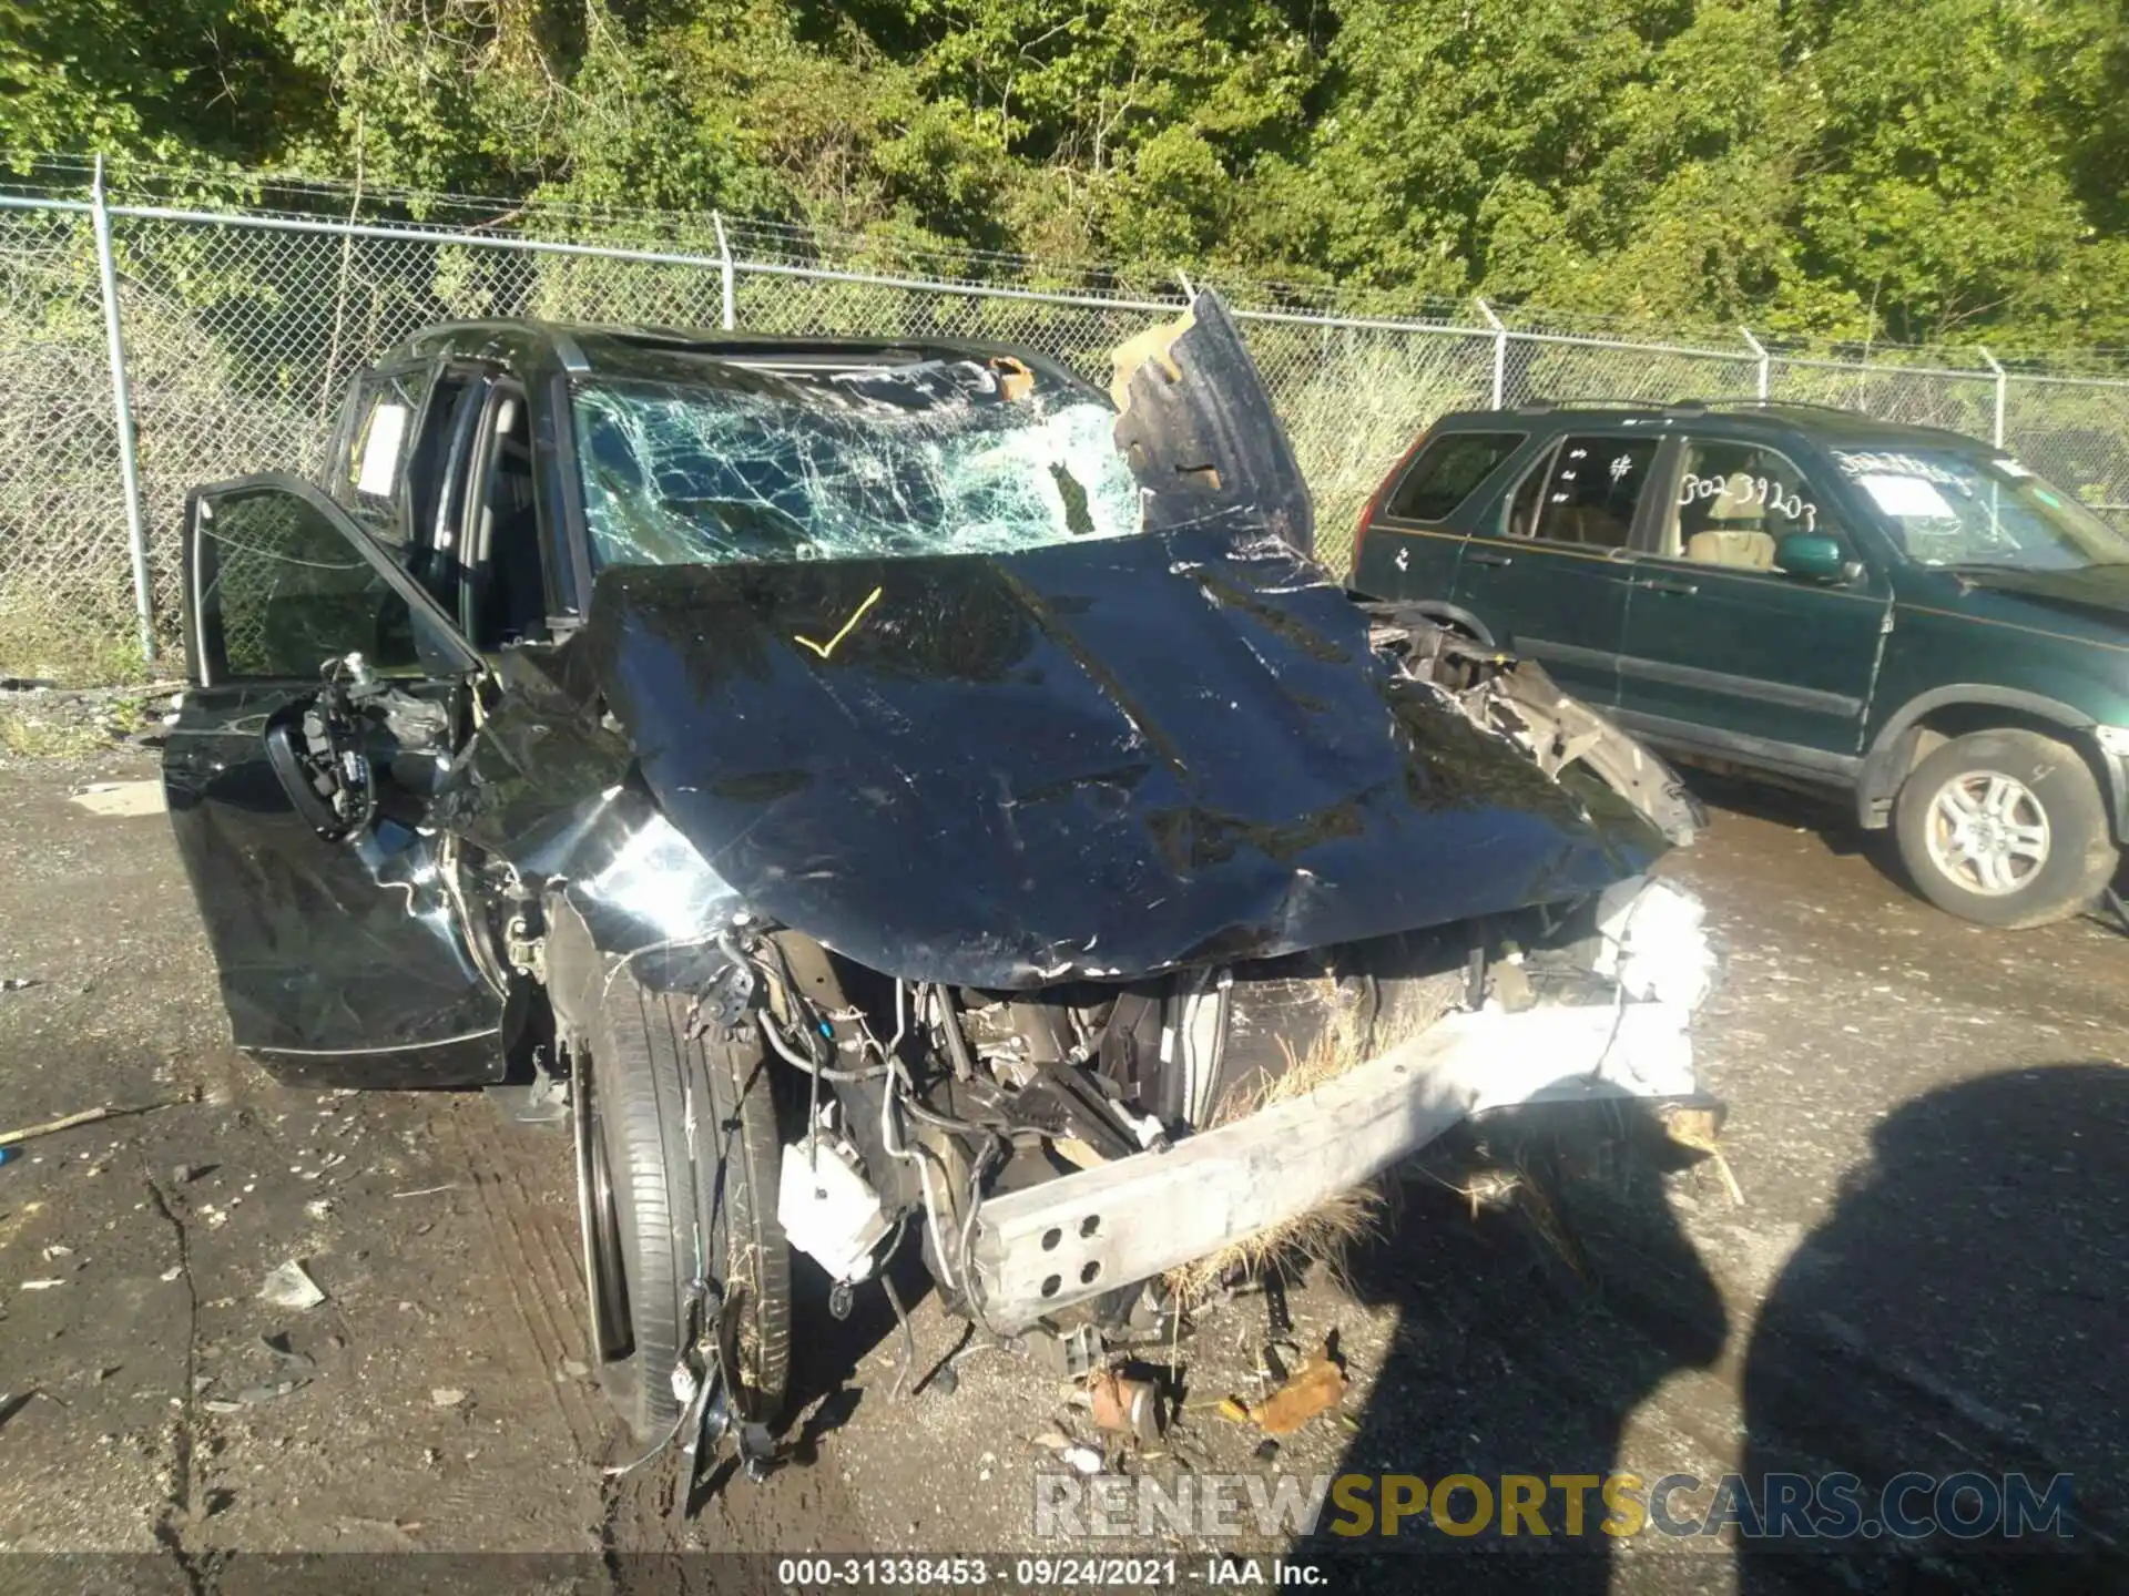
[[[562,1585],[637,1585],[656,1583],[637,1551],[1067,1549],[1035,1536],[1033,1479],[1060,1466],[1045,1432],[1088,1436],[1088,1415],[999,1351],[890,1400],[877,1290],[801,1334],[796,1456],[771,1479],[690,1496],[671,1460],[605,1477],[630,1447],[581,1362],[564,1138],[479,1094],[292,1092],[236,1058],[166,819],[72,800],[153,770],[126,751],[0,764],[0,1124],[170,1104],[0,1166],[0,1545],[145,1553],[134,1583],[196,1592],[245,1587],[243,1553],[273,1551],[549,1551],[579,1560]],[[1578,1181],[1578,1273],[1514,1215],[1412,1185],[1343,1283],[1292,1296],[1297,1341],[1337,1332],[1348,1419],[1258,1458],[1218,1415],[1258,1390],[1265,1307],[1237,1300],[1184,1341],[1182,1426],[1130,1468],[2061,1470],[2086,1545],[2118,1534],[2129,943],[2091,921],[1969,930],[1837,819],[1710,794],[1712,832],[1669,868],[1727,960],[1699,1047],[1742,1202],[1710,1162]],[[321,1304],[262,1300],[287,1260]],[[922,1370],[954,1326],[928,1300],[913,1317]],[[1111,1549],[1171,1547],[1194,1573],[1199,1545]],[[1888,1556],[1799,1575],[1648,1536],[1610,1562],[1429,1558],[1424,1577],[1446,1564],[1575,1590],[1905,1577]],[[1976,1579],[2101,1581],[2042,1560]]]

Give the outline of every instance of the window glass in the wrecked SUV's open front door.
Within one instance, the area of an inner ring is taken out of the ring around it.
[[[360,653],[383,672],[436,670],[451,647],[317,504],[241,489],[200,504],[194,624],[209,679],[313,679]]]

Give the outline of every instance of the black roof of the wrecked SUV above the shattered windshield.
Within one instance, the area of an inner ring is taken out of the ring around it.
[[[511,358],[571,375],[643,377],[671,381],[686,372],[715,385],[717,368],[837,370],[847,366],[913,366],[933,360],[994,360],[1007,355],[1037,375],[1086,387],[1084,379],[1035,349],[967,338],[813,338],[754,332],[715,332],[649,323],[590,321],[445,321],[405,338],[394,355]]]

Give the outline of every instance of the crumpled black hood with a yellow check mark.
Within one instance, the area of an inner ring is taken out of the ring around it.
[[[1216,515],[1016,555],[634,566],[571,645],[673,826],[888,975],[1128,979],[1563,900],[1592,819]]]

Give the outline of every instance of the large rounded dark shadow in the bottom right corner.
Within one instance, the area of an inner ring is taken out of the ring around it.
[[[1897,1109],[1776,1281],[1744,1375],[1746,1481],[1852,1475],[1861,1534],[1769,1513],[1739,1587],[2129,1587],[2125,1313],[2129,1070],[2012,1070]],[[1810,1517],[1848,1528],[1814,1490]],[[2006,1532],[2020,1490],[2057,1528]],[[1948,1528],[1895,1534],[1927,1519]]]

